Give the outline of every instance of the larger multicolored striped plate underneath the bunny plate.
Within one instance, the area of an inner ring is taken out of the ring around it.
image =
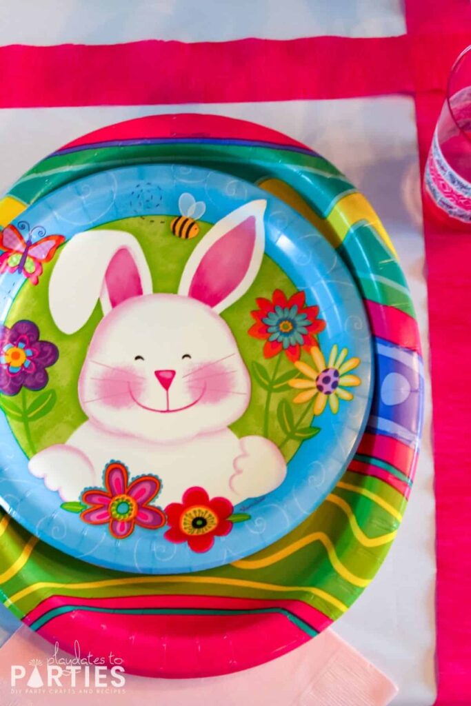
[[[350,268],[374,337],[366,431],[335,490],[275,544],[191,575],[131,575],[73,560],[4,515],[1,592],[64,649],[119,654],[126,670],[208,676],[273,659],[347,611],[374,578],[403,517],[422,426],[423,375],[407,284],[378,217],[332,164],[290,138],[215,116],[137,119],[91,133],[34,167],[0,203],[6,225],[67,181],[141,162],[234,174],[292,205]],[[352,322],[354,325],[354,322]]]

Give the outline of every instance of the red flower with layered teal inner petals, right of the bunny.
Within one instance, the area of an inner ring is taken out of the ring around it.
[[[282,351],[295,363],[301,356],[301,349],[310,351],[318,346],[316,334],[326,328],[326,322],[317,318],[318,306],[304,306],[304,292],[296,292],[287,299],[281,289],[275,289],[272,301],[259,297],[258,309],[251,311],[256,323],[249,329],[249,335],[265,340],[263,355],[273,358]]]

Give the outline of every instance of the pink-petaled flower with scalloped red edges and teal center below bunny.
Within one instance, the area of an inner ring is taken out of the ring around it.
[[[129,537],[135,525],[158,530],[165,525],[165,515],[148,503],[157,496],[160,485],[155,476],[141,476],[128,485],[126,466],[111,461],[105,468],[107,490],[92,488],[82,493],[82,502],[92,507],[83,510],[81,519],[89,525],[109,524],[109,532],[117,539]]]

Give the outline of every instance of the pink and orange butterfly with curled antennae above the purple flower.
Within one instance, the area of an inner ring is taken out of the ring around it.
[[[26,240],[20,230],[28,233]],[[42,275],[42,263],[52,260],[57,248],[65,240],[63,235],[45,235],[42,226],[30,229],[26,221],[18,222],[18,228],[7,225],[0,233],[0,248],[5,251],[0,256],[0,273],[16,272],[28,277],[32,285],[37,285]],[[34,243],[33,238],[36,239]]]

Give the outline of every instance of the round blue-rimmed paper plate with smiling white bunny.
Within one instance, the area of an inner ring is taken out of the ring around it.
[[[290,532],[352,458],[369,325],[316,229],[227,174],[148,164],[1,233],[0,498],[77,558],[182,573]]]

